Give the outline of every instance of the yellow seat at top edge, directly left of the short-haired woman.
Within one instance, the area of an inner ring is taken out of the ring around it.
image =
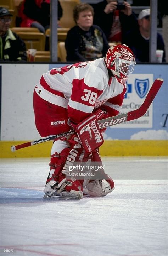
[[[79,3],[79,0],[60,0],[60,4],[63,10],[63,15],[60,19],[61,27],[72,28],[76,25],[73,20],[73,9]]]

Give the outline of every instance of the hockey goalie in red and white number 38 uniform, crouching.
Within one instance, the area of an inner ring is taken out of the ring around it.
[[[67,163],[102,164],[99,147],[104,142],[105,129],[99,129],[97,120],[118,115],[134,66],[133,52],[119,44],[108,49],[106,58],[51,69],[42,75],[33,95],[40,136],[75,130],[53,142],[46,198],[103,197],[113,191],[114,182],[105,172],[103,179],[67,178]]]

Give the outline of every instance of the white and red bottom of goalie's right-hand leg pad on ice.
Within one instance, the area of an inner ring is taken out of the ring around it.
[[[86,186],[83,187],[83,193],[90,195],[91,197],[104,197],[114,190],[113,180],[95,180],[90,181]]]

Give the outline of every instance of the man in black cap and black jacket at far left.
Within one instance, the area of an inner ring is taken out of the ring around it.
[[[27,61],[26,45],[10,30],[12,15],[0,7],[0,61]]]

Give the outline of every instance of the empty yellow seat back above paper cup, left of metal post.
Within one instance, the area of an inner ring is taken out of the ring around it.
[[[45,50],[45,35],[37,32],[18,32],[17,35],[22,38],[26,44],[26,49]]]

